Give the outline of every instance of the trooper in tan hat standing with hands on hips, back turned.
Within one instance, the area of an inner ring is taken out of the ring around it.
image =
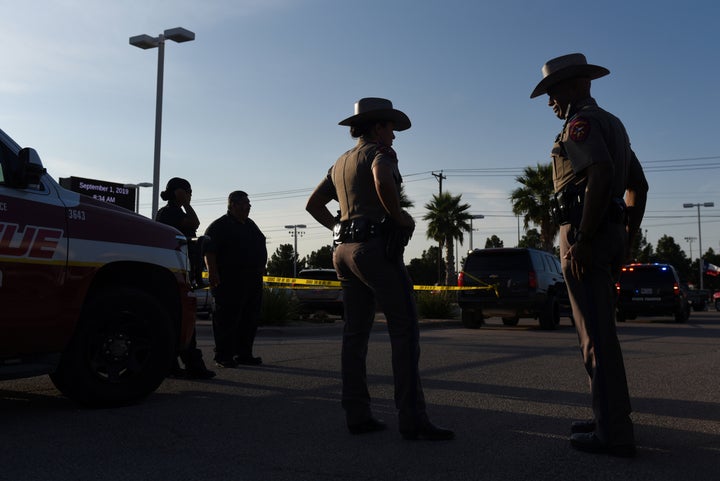
[[[394,131],[410,128],[410,119],[386,99],[363,98],[355,115],[340,122],[350,127],[357,145],[340,156],[307,201],[307,211],[334,229],[333,264],[342,284],[345,327],[342,342],[342,406],[348,429],[363,434],[386,429],[372,415],[367,386],[368,339],[375,302],[387,319],[395,378],[395,406],[405,439],[448,440],[454,433],[430,423],[420,384],[419,328],[410,277],[402,251],[415,221],[400,207]],[[328,210],[340,203],[340,223]]]

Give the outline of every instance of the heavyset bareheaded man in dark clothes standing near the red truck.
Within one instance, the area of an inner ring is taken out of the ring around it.
[[[248,215],[250,200],[236,190],[228,196],[227,214],[205,231],[203,245],[210,286],[215,296],[213,333],[218,367],[258,365],[253,343],[260,321],[265,236]]]

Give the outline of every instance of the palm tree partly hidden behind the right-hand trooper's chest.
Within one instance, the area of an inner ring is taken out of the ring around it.
[[[515,180],[522,184],[510,193],[513,213],[523,216],[525,229],[530,223],[540,227],[543,249],[552,252],[559,227],[550,214],[550,200],[553,196],[552,165],[537,164],[537,169],[525,167],[523,175]]]

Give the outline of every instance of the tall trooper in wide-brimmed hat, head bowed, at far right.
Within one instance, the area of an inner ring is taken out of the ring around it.
[[[570,294],[593,419],[571,426],[575,449],[635,455],[625,366],[615,328],[615,282],[640,229],[648,184],[622,122],[590,96],[610,73],[580,53],[542,67],[530,98],[548,95],[564,120],[552,150],[560,257]]]

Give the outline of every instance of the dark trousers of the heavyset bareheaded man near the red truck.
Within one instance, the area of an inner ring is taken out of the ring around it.
[[[262,289],[262,276],[255,273],[243,279],[222,282],[213,288],[216,361],[252,357],[253,343],[260,323]]]

